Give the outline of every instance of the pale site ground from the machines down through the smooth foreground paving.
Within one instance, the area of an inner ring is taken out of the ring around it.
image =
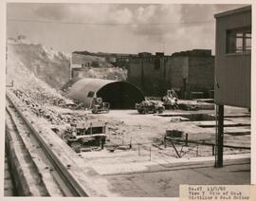
[[[92,114],[91,111],[71,110],[49,104],[44,107],[46,112],[49,110],[54,117],[63,119],[54,121],[38,118],[41,124],[51,128],[67,126],[66,117],[107,123],[104,149],[78,154],[81,156],[78,165],[83,169],[92,169],[105,178],[111,191],[119,196],[174,197],[178,195],[178,185],[182,183],[249,183],[248,149],[225,148],[225,167],[214,169],[212,146],[193,143],[185,145],[184,142],[172,144],[171,141],[164,143],[166,130],[181,131],[183,139],[188,134],[189,140],[214,143],[214,110],[166,110],[163,116],[159,116],[141,115],[137,110],[111,110],[108,114]],[[204,118],[194,118],[200,114],[204,114]],[[227,106],[225,116],[225,145],[249,148],[250,114],[247,109]]]

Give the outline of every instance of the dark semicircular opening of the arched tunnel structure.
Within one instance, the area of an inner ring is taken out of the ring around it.
[[[97,92],[97,97],[110,103],[111,109],[134,109],[144,99],[142,92],[129,82],[112,82]]]

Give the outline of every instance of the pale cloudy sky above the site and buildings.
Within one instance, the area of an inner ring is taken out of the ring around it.
[[[214,14],[246,5],[8,3],[7,37],[70,53],[211,49]]]

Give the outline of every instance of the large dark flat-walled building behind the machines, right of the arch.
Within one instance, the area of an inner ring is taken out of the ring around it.
[[[141,52],[130,57],[127,81],[146,96],[163,96],[167,89],[174,88],[181,98],[213,98],[214,57],[205,49],[172,56]]]

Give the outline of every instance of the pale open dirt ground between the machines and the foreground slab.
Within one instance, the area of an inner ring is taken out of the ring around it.
[[[70,113],[69,109],[58,108],[59,113]],[[215,121],[175,121],[174,117],[160,117],[158,114],[138,114],[136,110],[111,110],[108,114],[91,114],[90,111],[76,110],[73,115],[86,116],[87,119],[97,119],[107,122],[108,133],[105,149],[101,151],[82,152],[82,157],[88,166],[120,164],[141,161],[165,161],[169,158],[191,158],[212,155],[212,146],[175,143],[170,141],[164,145],[166,130],[178,130],[188,134],[189,140],[214,143]],[[164,115],[209,114],[214,116],[214,110],[181,111],[166,110]],[[231,146],[250,146],[250,117],[247,109],[225,107],[225,119],[229,127],[225,127],[225,144]],[[233,118],[237,116],[239,118]],[[231,117],[231,118],[229,118]],[[200,127],[207,125],[207,127]],[[236,125],[236,126],[234,126]],[[211,127],[209,127],[211,126]],[[233,135],[232,135],[233,134]],[[114,152],[110,148],[116,147]],[[174,148],[179,155],[176,154]],[[225,148],[225,154],[243,154],[249,150]],[[121,166],[120,166],[121,167]],[[123,167],[121,167],[123,168]],[[119,167],[117,167],[119,169]]]

